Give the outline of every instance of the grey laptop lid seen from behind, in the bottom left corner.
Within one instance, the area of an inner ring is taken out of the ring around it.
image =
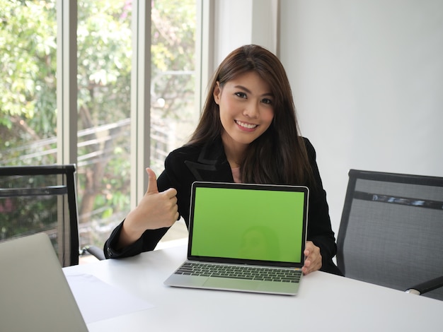
[[[88,331],[45,233],[0,243],[1,331]]]

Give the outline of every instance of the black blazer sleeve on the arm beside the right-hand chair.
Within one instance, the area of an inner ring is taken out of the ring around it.
[[[341,275],[340,270],[338,270],[337,266],[335,266],[332,261],[337,253],[337,244],[335,243],[335,235],[330,225],[326,191],[323,189],[320,172],[318,172],[316,150],[307,138],[304,138],[304,142],[314,180],[314,183],[309,186],[307,239],[320,248],[322,257],[321,271]]]

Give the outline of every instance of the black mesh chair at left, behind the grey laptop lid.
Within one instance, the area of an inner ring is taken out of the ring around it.
[[[0,167],[0,242],[45,232],[62,266],[79,263],[75,165]]]

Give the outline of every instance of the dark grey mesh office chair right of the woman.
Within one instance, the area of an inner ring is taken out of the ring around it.
[[[443,300],[443,178],[350,170],[337,246],[345,277]]]

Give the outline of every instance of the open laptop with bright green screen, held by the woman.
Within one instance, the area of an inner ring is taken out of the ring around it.
[[[194,182],[188,259],[164,284],[297,295],[306,186]]]

